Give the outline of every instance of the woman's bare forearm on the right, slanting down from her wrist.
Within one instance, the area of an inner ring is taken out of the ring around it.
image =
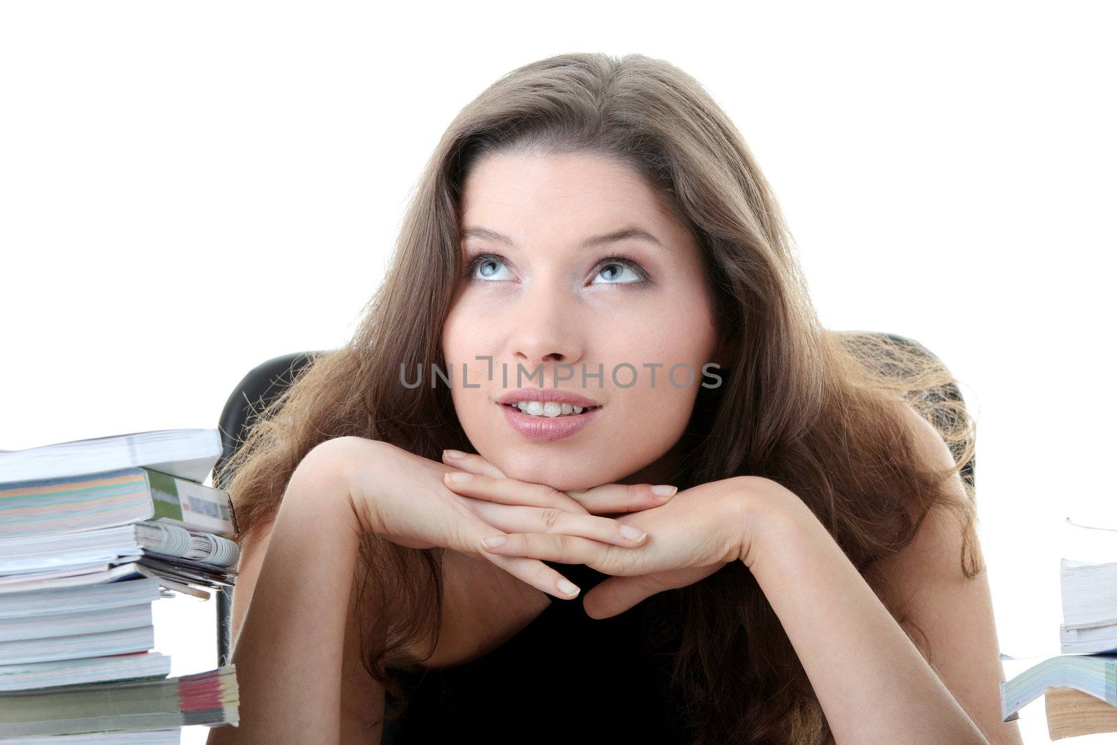
[[[750,571],[838,743],[986,738],[821,523],[779,516]]]

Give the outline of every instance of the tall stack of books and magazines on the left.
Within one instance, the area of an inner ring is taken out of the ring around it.
[[[218,430],[0,451],[0,739],[178,743],[238,722],[233,666],[169,678],[152,602],[236,582]]]

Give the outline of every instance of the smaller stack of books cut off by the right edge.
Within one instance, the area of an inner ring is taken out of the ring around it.
[[[1079,527],[1107,532],[1117,555],[1117,528]],[[1117,733],[1117,561],[1062,558],[1060,595],[1062,655],[1001,684],[1003,720],[1043,696],[1051,739]]]

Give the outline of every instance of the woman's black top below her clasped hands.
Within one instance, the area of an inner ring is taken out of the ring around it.
[[[462,735],[531,743],[687,742],[667,690],[678,633],[653,653],[645,651],[646,623],[658,612],[659,596],[594,620],[582,598],[608,575],[582,564],[544,563],[576,584],[579,595],[552,595],[508,641],[464,665],[391,670],[410,704],[385,726],[382,743],[449,743]]]

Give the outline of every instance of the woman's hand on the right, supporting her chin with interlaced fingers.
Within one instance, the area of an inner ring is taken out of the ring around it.
[[[534,499],[540,490],[540,485],[483,475],[475,475],[465,483],[447,481],[447,486],[464,496],[496,498],[502,503],[514,503],[517,495],[524,495],[519,497],[524,500]],[[745,507],[751,497],[752,500],[758,496],[763,498],[772,488],[782,489],[768,479],[735,477],[686,489],[655,508],[621,515],[617,518],[619,523],[638,527],[651,536],[636,547],[609,545],[546,529],[517,529],[499,536],[505,539],[502,545],[483,544],[483,550],[502,556],[585,564],[617,575],[598,584],[583,600],[591,618],[609,618],[650,595],[687,586],[732,561],[743,560],[750,553],[754,528],[752,510]]]

